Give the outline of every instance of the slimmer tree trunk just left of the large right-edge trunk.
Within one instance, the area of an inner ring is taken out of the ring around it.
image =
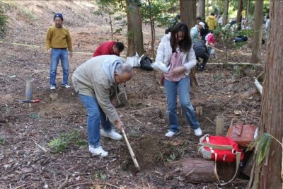
[[[263,1],[255,1],[255,23],[253,25],[253,47],[250,63],[260,62],[262,38]],[[271,20],[271,19],[270,19]]]

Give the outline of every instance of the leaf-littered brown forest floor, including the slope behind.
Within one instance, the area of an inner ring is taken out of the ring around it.
[[[9,3],[7,3],[9,2]],[[111,40],[107,17],[94,16],[90,1],[6,1],[10,17],[9,32],[0,42],[0,188],[217,188],[214,183],[190,183],[185,180],[180,161],[200,157],[199,137],[187,124],[180,105],[181,125],[178,137],[168,139],[166,98],[158,84],[161,76],[153,71],[134,69],[134,76],[120,98],[117,109],[125,122],[125,132],[141,171],[137,172],[125,140],[101,138],[109,151],[105,158],[91,156],[87,145],[86,110],[74,88],[55,91],[49,88],[49,56],[45,53],[45,34],[55,12],[64,14],[74,44],[70,59],[71,75],[76,67],[91,58],[100,42]],[[121,21],[115,21],[119,27]],[[149,51],[150,28],[144,25],[144,44]],[[156,29],[156,46],[163,28]],[[126,30],[115,39],[126,41]],[[122,53],[125,55],[127,49]],[[250,48],[231,51],[229,62],[248,62]],[[219,45],[216,59],[223,63],[224,48]],[[265,51],[262,50],[262,59]],[[198,86],[191,88],[194,107],[202,106],[197,118],[204,134],[215,134],[215,118],[225,117],[225,133],[231,122],[259,125],[260,93],[253,84],[261,65],[208,64],[196,74]],[[26,80],[33,78],[33,98],[40,103],[21,103],[25,99]],[[57,70],[57,83],[62,68]],[[76,142],[63,152],[50,149],[50,141],[62,134],[74,133]],[[79,145],[78,141],[81,142]],[[83,145],[84,144],[84,145]],[[222,188],[246,188],[248,180],[240,176]]]

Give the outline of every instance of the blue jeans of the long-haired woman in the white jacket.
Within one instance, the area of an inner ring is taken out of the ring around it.
[[[195,116],[195,110],[190,103],[190,78],[185,77],[180,81],[168,81],[164,79],[164,87],[167,98],[167,112],[170,131],[179,132],[180,125],[178,124],[177,116],[177,92],[179,92],[180,105],[185,113],[187,122],[193,130],[200,127],[200,123]]]

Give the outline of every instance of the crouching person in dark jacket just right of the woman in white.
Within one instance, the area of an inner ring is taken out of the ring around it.
[[[207,61],[209,59],[207,45],[204,44],[204,41],[200,40],[195,43],[194,45],[194,51],[195,51],[195,57],[197,58],[197,66],[196,69],[203,71],[205,64],[207,64]],[[202,58],[202,64],[200,64],[200,58]]]

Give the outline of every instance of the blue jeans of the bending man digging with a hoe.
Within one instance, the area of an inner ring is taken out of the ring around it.
[[[100,108],[96,98],[82,94],[79,94],[79,98],[88,111],[88,145],[93,148],[100,147],[100,123],[105,132],[110,132],[114,126]]]

